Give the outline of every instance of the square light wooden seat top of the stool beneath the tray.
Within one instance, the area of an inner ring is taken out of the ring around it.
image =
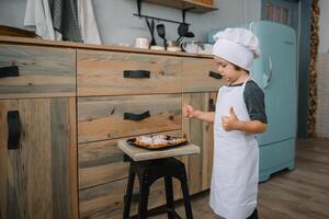
[[[177,155],[188,155],[188,154],[194,154],[201,152],[200,147],[193,143],[179,146],[175,148],[164,149],[164,150],[147,150],[143,148],[137,148],[135,146],[131,146],[125,140],[120,140],[117,142],[117,147],[124,153],[131,157],[134,161],[154,160],[154,159],[170,158]]]

